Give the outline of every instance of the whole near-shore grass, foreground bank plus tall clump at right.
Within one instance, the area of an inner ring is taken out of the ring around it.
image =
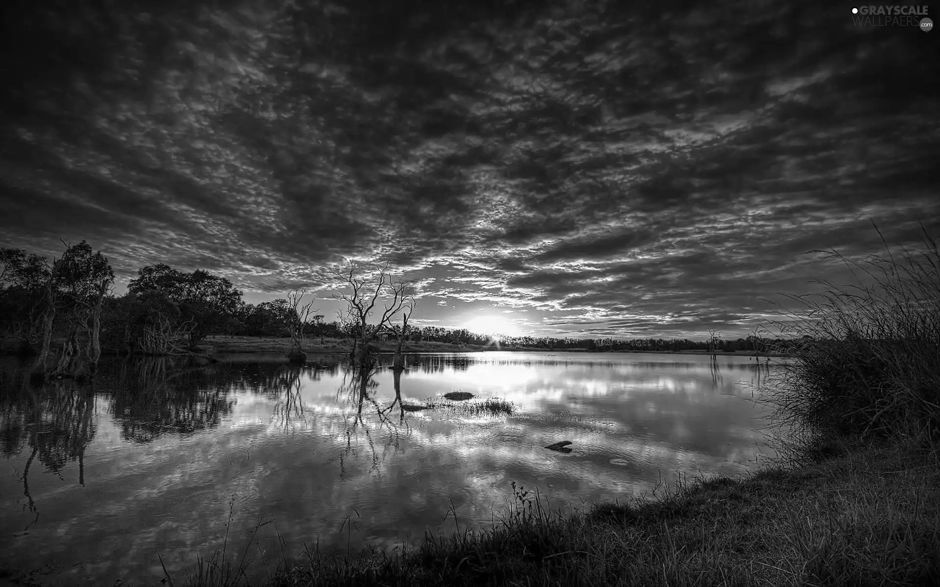
[[[569,512],[512,484],[489,527],[451,506],[450,535],[308,553],[268,585],[940,584],[940,255],[924,243],[864,261],[825,252],[861,278],[791,298],[778,326],[806,338],[760,401],[801,434],[772,468]]]

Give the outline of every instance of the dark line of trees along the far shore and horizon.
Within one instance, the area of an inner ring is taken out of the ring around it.
[[[387,278],[384,271],[380,276]],[[337,320],[325,321],[323,315],[314,314],[309,301],[302,303],[304,292],[292,290],[286,298],[246,303],[243,292],[225,277],[206,270],[177,270],[164,263],[137,270],[127,293],[117,296],[111,289],[114,271],[107,257],[92,251],[85,240],[66,244],[63,255],[52,261],[8,248],[0,250],[0,333],[18,341],[20,348],[39,348],[40,353],[54,354],[43,361],[55,363],[47,371],[60,375],[69,374],[74,369],[72,363],[81,357],[97,361],[102,351],[174,354],[197,348],[210,334],[292,336],[297,348],[300,340],[309,336],[360,340],[365,346],[374,340],[397,338],[399,348],[406,342],[484,347],[493,346],[498,339],[500,347],[509,348],[760,351],[771,349],[773,344],[776,350],[786,350],[781,348],[786,347],[786,341],[756,334],[707,341],[531,335],[494,339],[466,329],[409,326],[407,319],[404,328],[393,325],[391,319],[368,324],[372,306],[367,308],[364,303],[368,301],[361,291],[365,282],[357,280],[352,266],[345,277],[359,297],[335,296],[350,302],[351,311],[340,313]],[[376,296],[384,286],[392,286],[390,279],[380,281]],[[414,299],[405,295],[404,286],[398,284],[389,291],[398,292],[397,311],[410,317]],[[376,299],[372,298],[373,305]],[[57,354],[52,349],[54,343],[59,345]]]

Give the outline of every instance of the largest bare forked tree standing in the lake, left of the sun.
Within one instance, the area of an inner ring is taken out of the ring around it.
[[[379,332],[393,330],[392,320],[399,313],[407,312],[410,316],[415,301],[405,291],[406,284],[400,280],[394,281],[389,275],[388,263],[379,270],[374,283],[368,283],[366,279],[358,277],[357,270],[355,262],[350,261],[349,266],[339,273],[344,286],[348,286],[352,291],[338,292],[333,297],[335,300],[346,302],[346,309],[337,312],[337,316],[344,325],[352,327],[354,332],[351,353],[353,363],[368,366],[373,362],[370,344]],[[372,316],[380,298],[386,301],[382,315],[377,323],[369,324],[368,318]]]

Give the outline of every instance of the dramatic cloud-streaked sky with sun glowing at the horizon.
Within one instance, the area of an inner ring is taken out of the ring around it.
[[[940,33],[850,4],[11,4],[0,246],[86,239],[118,292],[330,319],[352,259],[418,326],[734,338],[844,275],[807,251],[940,232]]]

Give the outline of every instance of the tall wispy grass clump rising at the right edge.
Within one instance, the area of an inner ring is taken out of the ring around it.
[[[843,263],[855,283],[815,281],[822,294],[788,296],[800,305],[784,310],[775,325],[802,342],[766,397],[783,424],[823,436],[934,446],[940,438],[940,254],[926,230],[922,250],[900,254],[878,234],[885,251],[861,261],[814,251]]]

